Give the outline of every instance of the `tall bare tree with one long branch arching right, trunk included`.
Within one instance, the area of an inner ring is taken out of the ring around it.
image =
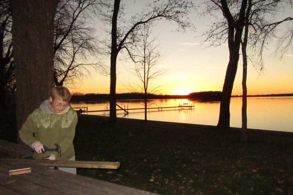
[[[105,15],[104,21],[111,24],[111,48],[110,52],[110,120],[116,120],[116,62],[118,53],[130,45],[135,44],[137,39],[137,31],[142,28],[142,24],[159,19],[166,19],[170,22],[178,24],[178,29],[190,27],[190,20],[187,15],[190,8],[193,8],[192,1],[169,0],[157,1],[148,4],[142,8],[140,13],[132,16],[130,21],[121,20],[123,16],[122,8],[120,8],[120,0],[115,0],[113,5],[112,17]],[[119,15],[120,13],[120,15]],[[121,17],[121,18],[120,18]],[[119,18],[119,20],[118,20]],[[119,26],[120,25],[120,26]]]

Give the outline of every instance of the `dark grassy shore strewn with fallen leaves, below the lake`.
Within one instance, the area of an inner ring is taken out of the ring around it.
[[[79,175],[158,194],[293,194],[293,136],[214,126],[79,117],[77,160],[119,161]]]

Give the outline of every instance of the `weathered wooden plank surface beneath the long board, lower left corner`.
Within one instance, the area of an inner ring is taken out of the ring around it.
[[[30,154],[29,147],[0,140],[0,158],[22,158]],[[31,168],[31,172],[8,174],[9,170],[22,168]],[[0,194],[154,194],[42,166],[3,163],[0,178]]]

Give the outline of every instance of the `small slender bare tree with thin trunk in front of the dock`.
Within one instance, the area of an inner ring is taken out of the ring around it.
[[[167,68],[158,68],[159,63],[164,59],[161,48],[155,45],[156,37],[151,38],[151,24],[142,25],[144,28],[138,33],[141,41],[133,47],[127,48],[130,58],[134,62],[134,68],[128,68],[138,82],[129,82],[125,86],[130,92],[144,94],[144,121],[147,122],[147,94],[160,92],[162,85],[152,83],[154,79],[164,75]],[[151,38],[151,39],[150,39]]]

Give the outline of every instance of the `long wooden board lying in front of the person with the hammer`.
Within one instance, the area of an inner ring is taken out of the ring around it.
[[[0,158],[1,163],[38,165],[45,167],[76,167],[76,168],[100,168],[100,169],[118,169],[120,162],[103,162],[103,161],[50,161],[35,159],[10,159]]]

